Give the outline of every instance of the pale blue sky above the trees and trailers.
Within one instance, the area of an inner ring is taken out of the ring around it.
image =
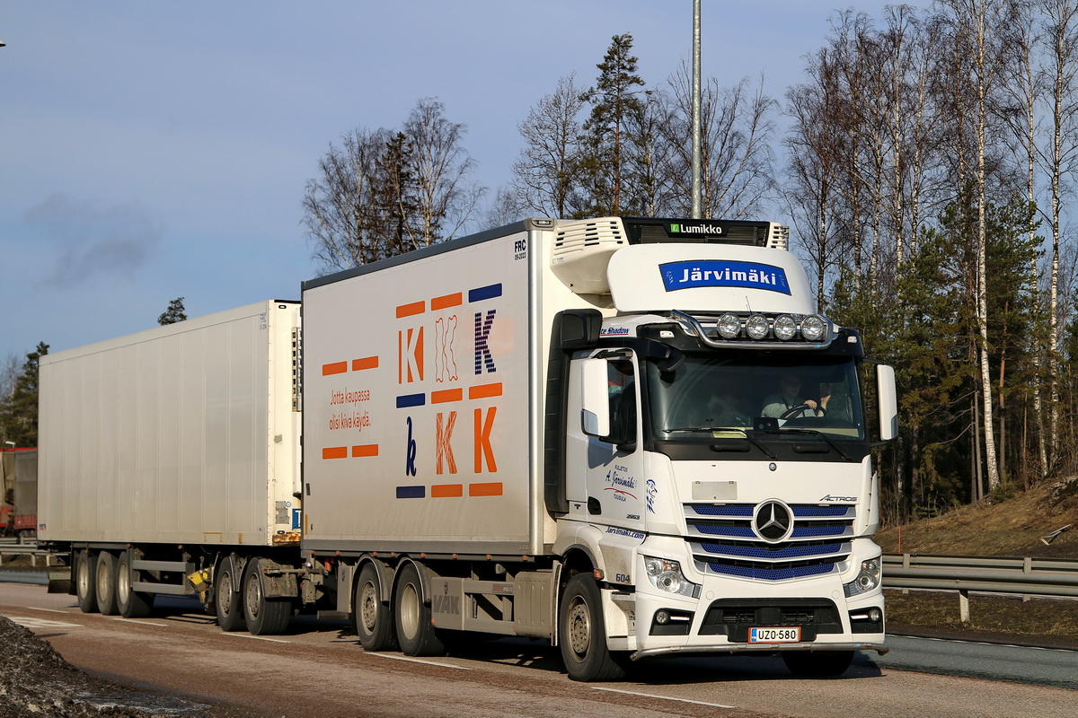
[[[703,0],[704,75],[780,98],[846,6]],[[190,316],[299,298],[303,187],[342,133],[437,97],[493,194],[559,78],[592,83],[630,32],[661,84],[691,30],[691,0],[4,0],[0,360],[149,328],[178,296]]]

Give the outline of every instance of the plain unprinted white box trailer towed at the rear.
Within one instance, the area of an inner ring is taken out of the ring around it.
[[[121,559],[182,593],[199,558],[299,545],[299,341],[270,300],[42,357],[39,538],[75,551],[81,602],[118,610]]]

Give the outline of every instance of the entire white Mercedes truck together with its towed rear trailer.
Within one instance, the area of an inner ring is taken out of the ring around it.
[[[894,372],[787,241],[533,219],[305,282],[302,329],[264,302],[50,354],[42,537],[84,610],[335,611],[410,656],[530,636],[578,680],[678,653],[842,673],[886,651]]]

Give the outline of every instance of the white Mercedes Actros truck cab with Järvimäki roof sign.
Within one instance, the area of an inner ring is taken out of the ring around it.
[[[555,546],[603,576],[611,660],[780,651],[835,675],[885,652],[871,448],[896,433],[893,370],[815,311],[785,228],[623,222],[610,306],[563,319]],[[567,644],[570,675],[602,671]]]

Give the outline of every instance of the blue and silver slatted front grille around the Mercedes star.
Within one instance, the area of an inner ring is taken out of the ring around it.
[[[687,540],[700,571],[782,581],[828,574],[849,558],[856,506],[790,505],[793,526],[777,544],[757,534],[752,524],[756,509],[756,504],[685,506]]]

